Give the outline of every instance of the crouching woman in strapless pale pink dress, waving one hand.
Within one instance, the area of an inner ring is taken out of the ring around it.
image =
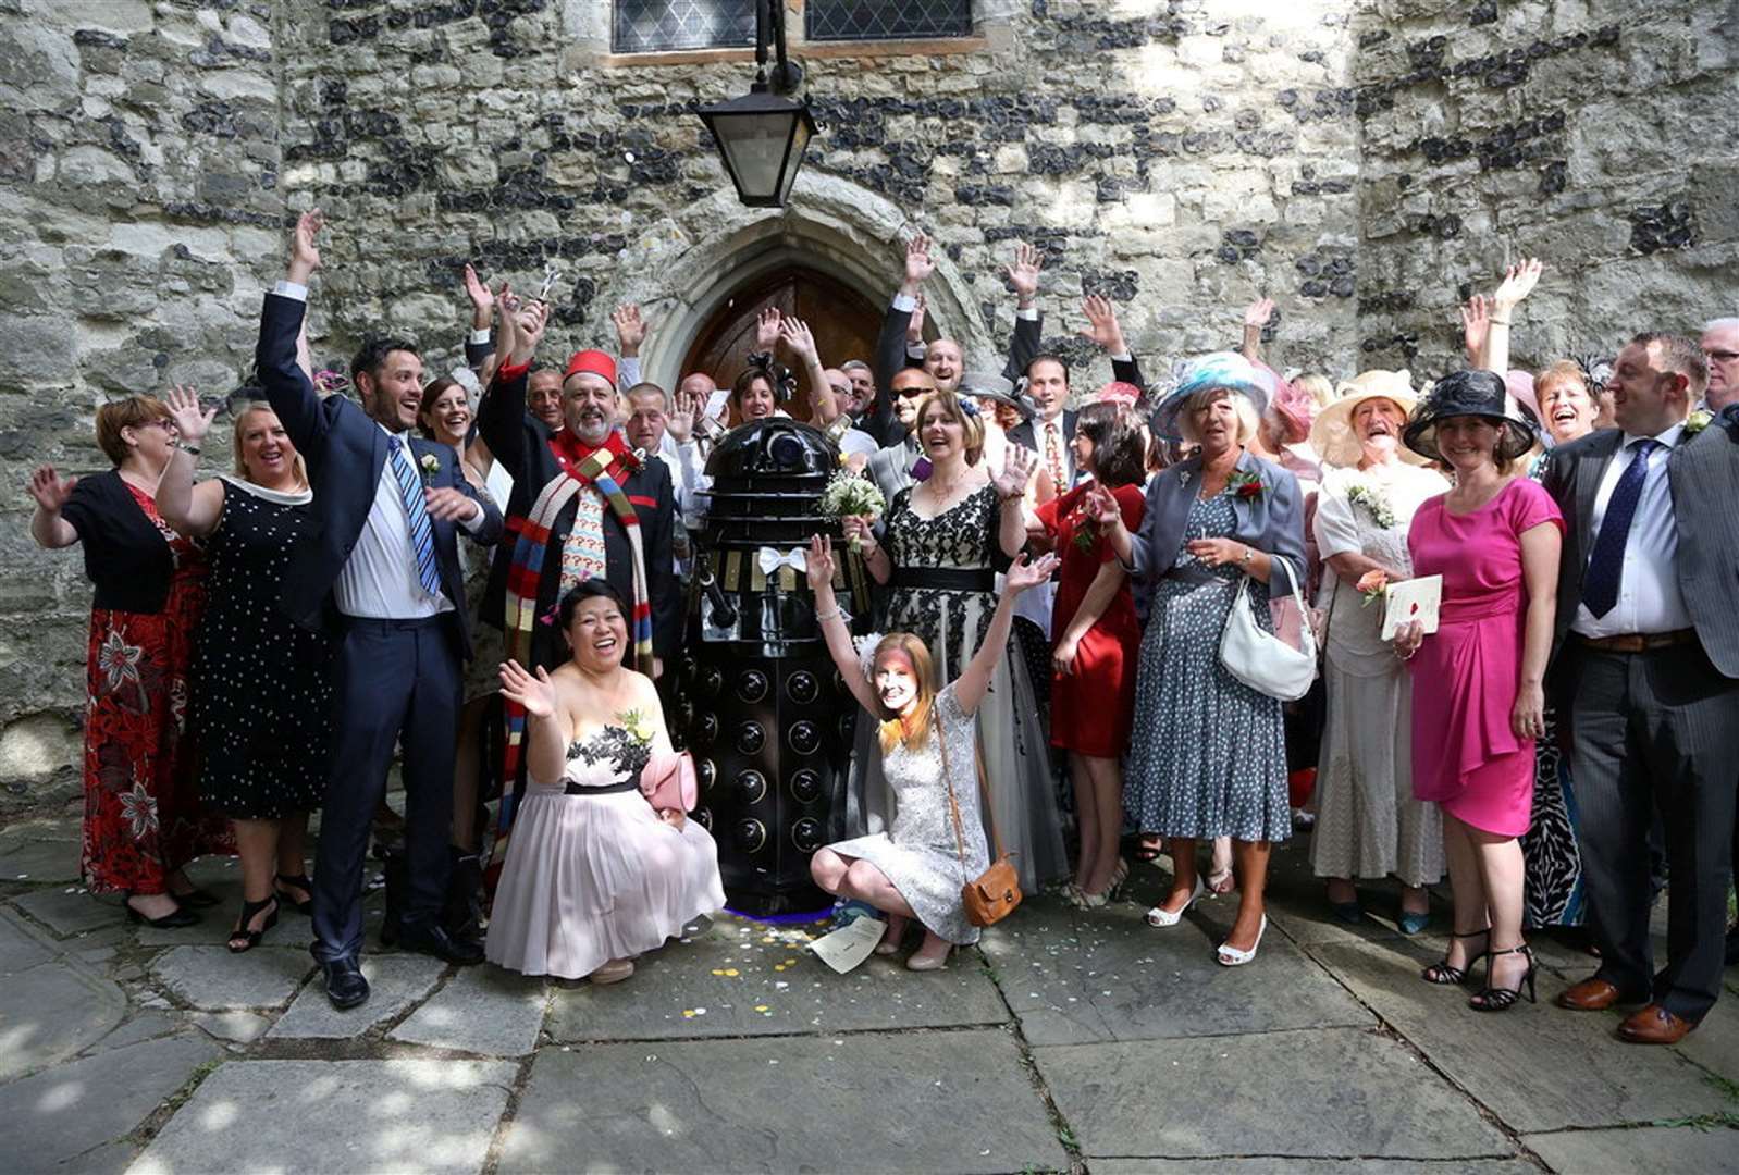
[[[555,673],[501,666],[525,707],[529,786],[496,890],[485,954],[525,975],[614,984],[633,956],[725,906],[718,846],[640,791],[671,754],[652,678],[623,667],[628,612],[602,579],[562,598],[572,652]]]

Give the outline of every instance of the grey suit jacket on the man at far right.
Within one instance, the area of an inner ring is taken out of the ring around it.
[[[1582,603],[1582,575],[1595,546],[1589,518],[1607,462],[1624,441],[1607,428],[1560,445],[1546,455],[1541,485],[1563,513],[1563,558],[1558,563],[1556,652]],[[1716,417],[1668,454],[1666,478],[1678,525],[1678,586],[1702,652],[1723,678],[1739,678],[1739,424]]]

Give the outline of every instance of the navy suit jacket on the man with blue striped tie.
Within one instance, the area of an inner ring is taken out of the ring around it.
[[[296,443],[296,452],[308,464],[308,481],[315,492],[315,527],[283,574],[283,610],[297,624],[332,631],[339,624],[332,586],[374,506],[381,469],[386,466],[386,433],[353,400],[343,395],[322,400],[308,382],[308,375],[296,365],[296,335],[301,332],[306,311],[306,302],[299,299],[266,294],[254,362],[271,410],[278,414],[283,431]],[[412,436],[410,452],[416,454],[417,464],[424,455],[435,455],[440,469],[428,481],[435,487],[452,487],[478,502],[483,508],[483,525],[471,537],[485,546],[496,542],[501,537],[501,511],[478,497],[464,480],[459,455],[452,447]],[[454,603],[459,652],[470,659],[471,634],[464,615],[464,572],[459,567],[457,527],[433,516],[430,523],[435,530],[440,586]]]

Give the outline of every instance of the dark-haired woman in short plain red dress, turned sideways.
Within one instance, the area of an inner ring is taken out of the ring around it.
[[[1052,607],[1050,746],[1069,753],[1080,859],[1068,899],[1097,909],[1129,876],[1118,857],[1123,773],[1136,714],[1136,648],[1141,622],[1116,553],[1087,511],[1087,490],[1116,497],[1123,525],[1141,528],[1146,438],[1141,417],[1118,403],[1092,403],[1075,417],[1075,468],[1087,473],[1068,494],[1038,508],[1043,534],[1063,556]]]

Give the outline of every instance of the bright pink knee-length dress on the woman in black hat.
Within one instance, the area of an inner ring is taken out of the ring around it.
[[[1433,497],[1407,532],[1414,575],[1443,577],[1438,631],[1414,669],[1414,796],[1494,836],[1522,836],[1534,805],[1534,739],[1509,728],[1522,683],[1522,534],[1563,528],[1556,502],[1516,478],[1469,514]]]

